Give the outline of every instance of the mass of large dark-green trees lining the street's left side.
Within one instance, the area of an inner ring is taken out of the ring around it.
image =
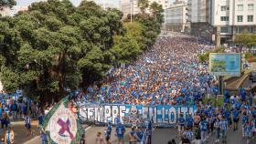
[[[159,22],[136,15],[122,22],[117,9],[69,0],[33,3],[27,12],[0,17],[0,79],[6,92],[59,100],[67,89],[86,88],[113,66],[131,63],[154,44]]]

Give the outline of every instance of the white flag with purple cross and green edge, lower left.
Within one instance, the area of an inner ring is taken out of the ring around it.
[[[68,98],[62,99],[44,119],[43,129],[51,144],[77,144],[81,139],[82,127],[70,103]]]

